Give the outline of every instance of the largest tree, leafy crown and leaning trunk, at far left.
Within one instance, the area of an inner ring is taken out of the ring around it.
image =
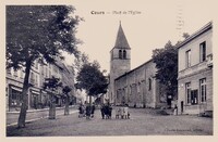
[[[25,127],[29,73],[35,61],[53,64],[62,51],[77,56],[76,25],[82,20],[66,5],[7,7],[7,68],[25,68],[17,127]]]

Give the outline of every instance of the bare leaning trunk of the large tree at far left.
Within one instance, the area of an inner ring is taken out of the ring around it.
[[[31,73],[31,61],[26,62],[26,68],[25,68],[25,77],[24,77],[24,83],[23,83],[23,90],[22,90],[22,105],[21,105],[21,112],[19,116],[17,121],[17,128],[24,128],[25,127],[25,120],[26,120],[26,111],[27,111],[27,103],[28,103],[28,78]]]

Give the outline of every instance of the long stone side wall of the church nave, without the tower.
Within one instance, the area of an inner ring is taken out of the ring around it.
[[[114,81],[118,105],[131,107],[160,107],[166,104],[166,94],[155,79],[156,66],[153,60],[120,76]]]

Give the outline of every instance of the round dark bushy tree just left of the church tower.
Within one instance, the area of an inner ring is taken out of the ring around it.
[[[78,72],[76,80],[77,83],[75,86],[80,89],[85,89],[89,95],[89,104],[92,103],[90,96],[107,92],[108,80],[104,73],[100,72],[100,65],[97,61],[84,64]]]

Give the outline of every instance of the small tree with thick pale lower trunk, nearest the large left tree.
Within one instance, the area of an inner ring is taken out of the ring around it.
[[[50,94],[50,103],[49,103],[49,119],[56,119],[56,99],[55,95],[57,94],[58,88],[62,87],[62,82],[59,78],[51,77],[46,78],[44,82],[44,89]]]

